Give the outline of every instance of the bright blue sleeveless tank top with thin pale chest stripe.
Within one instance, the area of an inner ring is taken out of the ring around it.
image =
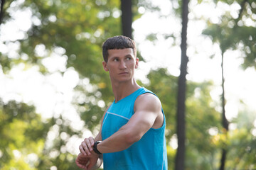
[[[102,123],[102,140],[110,137],[125,125],[134,114],[136,98],[145,93],[152,93],[144,87],[133,94],[112,103]],[[155,94],[154,94],[155,95]],[[164,111],[162,109],[164,115]],[[167,152],[165,140],[166,119],[161,128],[151,128],[138,142],[121,152],[103,154],[105,170],[167,170]]]

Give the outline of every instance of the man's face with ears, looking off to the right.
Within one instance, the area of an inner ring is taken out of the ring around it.
[[[134,69],[138,67],[139,59],[135,58],[132,48],[107,50],[108,60],[102,62],[106,72],[110,72],[110,79],[114,81],[128,81],[134,77]]]

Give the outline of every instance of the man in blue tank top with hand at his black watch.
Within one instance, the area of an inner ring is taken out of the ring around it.
[[[159,98],[134,79],[139,64],[135,42],[124,36],[109,38],[102,55],[115,99],[95,139],[81,143],[76,164],[95,169],[103,154],[105,170],[167,169],[164,111]]]

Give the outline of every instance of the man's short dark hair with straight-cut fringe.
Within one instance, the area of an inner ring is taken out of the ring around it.
[[[117,35],[112,38],[108,38],[102,45],[102,55],[105,62],[108,59],[108,52],[107,50],[114,50],[114,49],[124,49],[124,48],[132,48],[134,52],[134,56],[137,55],[136,44],[134,40],[128,38],[124,35]]]

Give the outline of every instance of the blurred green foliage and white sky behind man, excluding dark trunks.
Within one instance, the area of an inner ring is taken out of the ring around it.
[[[181,0],[133,0],[141,86],[166,115],[175,167]],[[189,2],[185,169],[256,169],[256,2]],[[122,35],[119,0],[1,0],[0,169],[78,169],[113,95],[102,42]],[[223,61],[223,62],[221,62]],[[223,65],[221,65],[223,63]],[[223,127],[224,108],[228,129]]]

